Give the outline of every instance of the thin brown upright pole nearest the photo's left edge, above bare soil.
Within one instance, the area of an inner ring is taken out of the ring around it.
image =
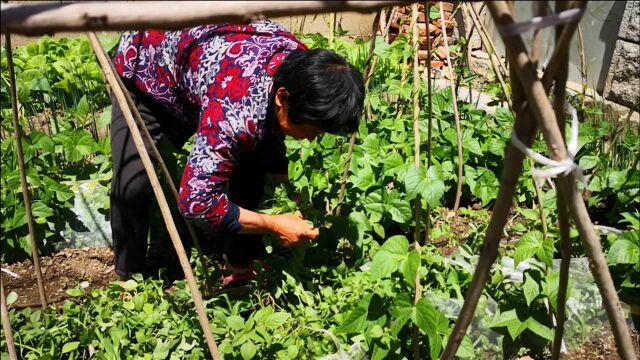
[[[7,51],[7,68],[9,70],[9,91],[11,95],[11,111],[13,114],[13,134],[16,142],[16,153],[18,155],[18,167],[20,169],[20,185],[22,187],[22,200],[24,201],[27,227],[29,228],[29,245],[31,245],[31,257],[33,259],[33,269],[38,282],[38,294],[42,308],[47,307],[47,293],[44,289],[42,269],[40,269],[40,256],[38,255],[38,244],[36,243],[36,227],[33,222],[33,212],[31,210],[31,193],[27,183],[27,169],[24,164],[24,151],[22,150],[22,127],[18,121],[18,96],[16,94],[16,74],[13,70],[13,51],[11,49],[11,36],[6,34],[5,49]]]

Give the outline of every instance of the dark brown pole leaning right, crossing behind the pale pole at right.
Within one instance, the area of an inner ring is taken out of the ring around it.
[[[491,3],[487,3],[491,4]],[[584,6],[584,3],[581,3]],[[495,19],[495,17],[494,17]],[[567,46],[571,41],[571,37],[575,32],[576,22],[570,23],[565,26],[558,41],[558,46]],[[551,80],[555,77],[555,71],[558,70],[557,62],[561,60],[560,54],[564,50],[556,49],[551,57],[549,66],[547,67],[542,84],[545,94],[551,88]],[[514,73],[516,74],[516,73]],[[517,79],[514,81],[514,88],[519,87]],[[516,86],[517,85],[517,86]],[[546,95],[545,95],[546,96]],[[531,111],[526,103],[519,104],[514,108],[515,110],[515,123],[513,131],[518,135],[520,140],[527,146],[530,146],[533,142],[536,122],[531,118]],[[500,190],[493,208],[493,214],[489,222],[489,227],[485,235],[484,244],[480,250],[480,256],[478,264],[474,271],[473,279],[469,286],[469,290],[465,294],[465,302],[460,310],[456,325],[449,337],[449,341],[440,357],[440,359],[453,359],[460,342],[462,341],[464,334],[473,319],[473,314],[478,305],[478,300],[482,294],[482,289],[489,278],[489,272],[491,271],[491,265],[494,263],[498,255],[498,245],[500,238],[502,237],[502,231],[507,223],[509,216],[509,210],[515,193],[515,188],[518,184],[518,177],[522,171],[522,161],[524,160],[524,154],[516,149],[511,142],[507,144],[505,152],[505,160],[502,170],[502,177],[500,181]]]

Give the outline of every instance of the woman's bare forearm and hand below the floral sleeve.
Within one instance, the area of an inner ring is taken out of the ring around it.
[[[313,240],[320,233],[306,220],[293,214],[267,215],[240,208],[238,222],[242,225],[241,234],[271,234],[287,247]]]

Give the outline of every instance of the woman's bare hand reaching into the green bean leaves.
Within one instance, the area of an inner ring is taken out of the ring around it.
[[[293,214],[270,216],[269,228],[284,247],[301,245],[304,241],[313,240],[320,234],[320,230]]]

